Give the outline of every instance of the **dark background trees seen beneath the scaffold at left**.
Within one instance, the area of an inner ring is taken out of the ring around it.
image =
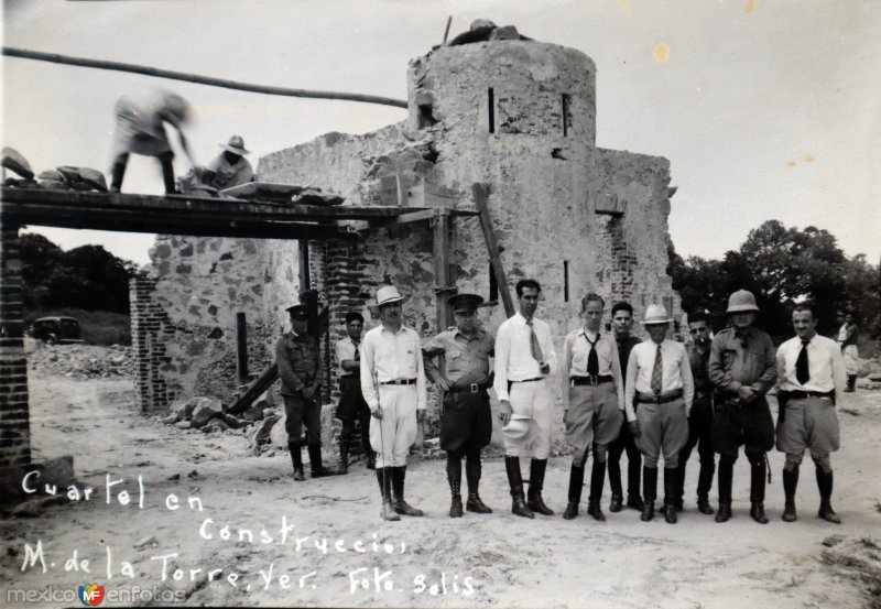
[[[19,238],[22,297],[25,312],[76,308],[129,314],[129,279],[134,262],[101,246],[68,251],[42,235]]]

